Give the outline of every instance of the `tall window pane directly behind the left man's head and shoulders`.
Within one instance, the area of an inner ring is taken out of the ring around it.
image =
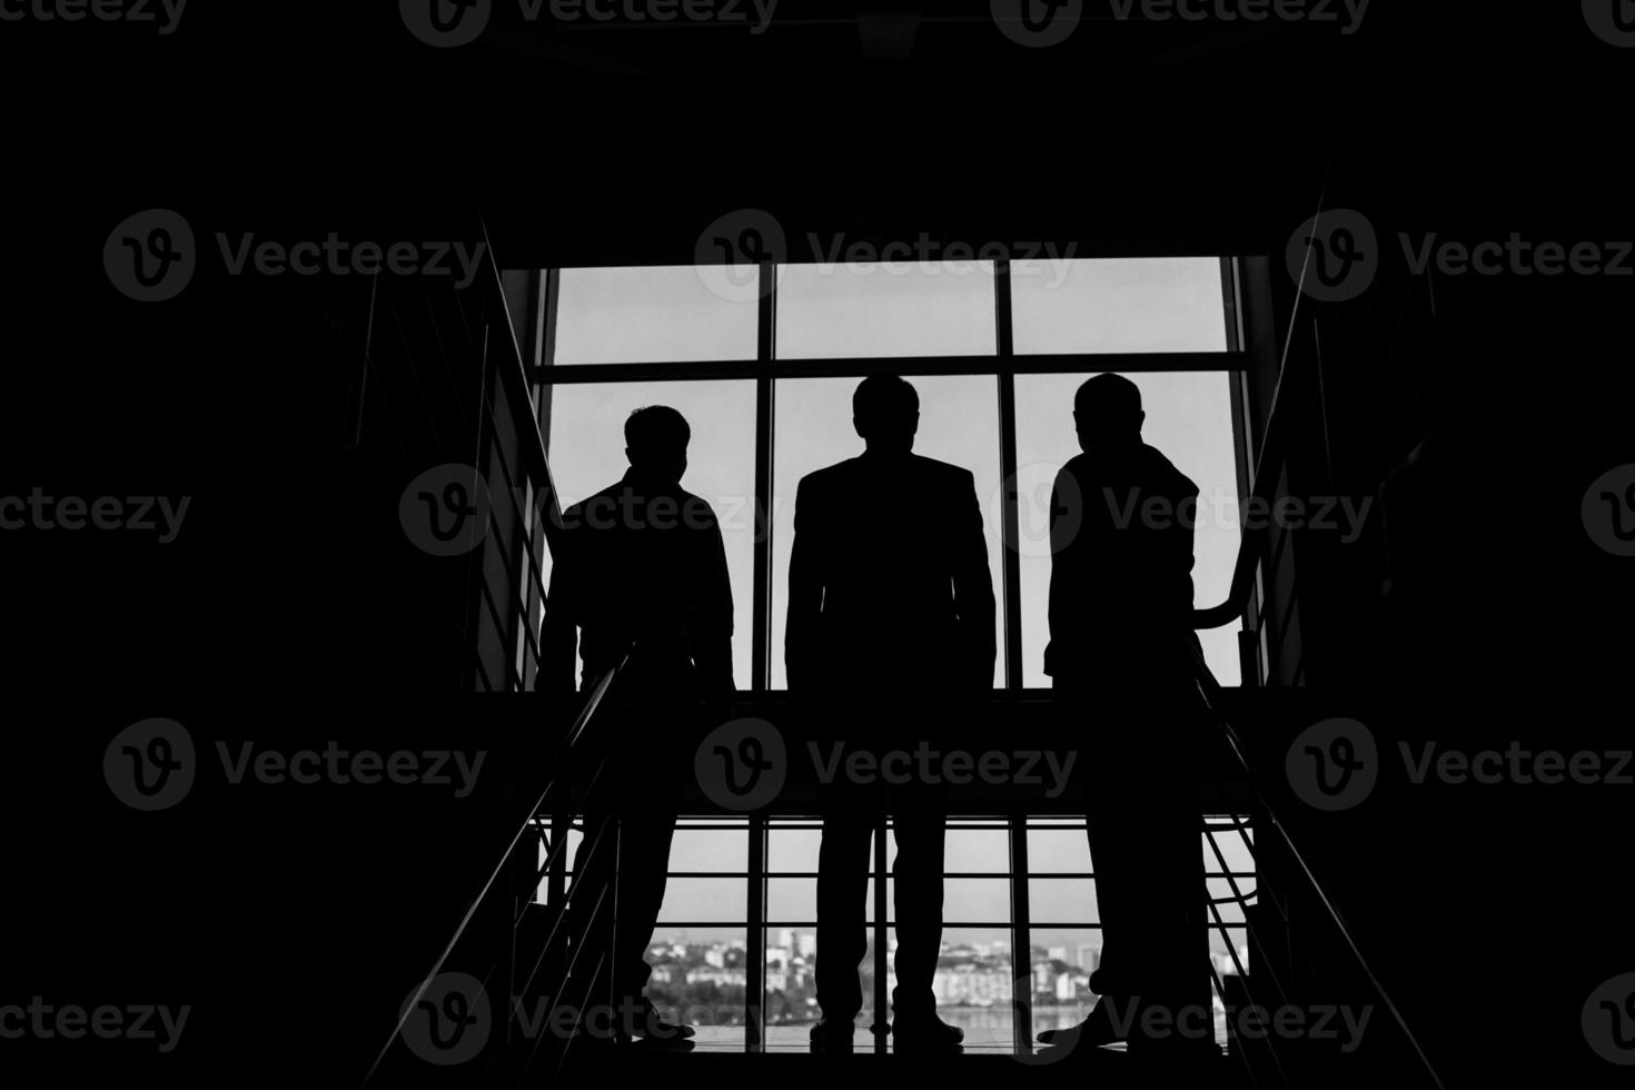
[[[732,582],[732,675],[750,685],[750,570],[755,495],[755,384],[585,382],[551,391],[546,449],[562,507],[616,484],[625,459],[625,418],[643,405],[670,405],[692,425],[682,487],[714,508]]]

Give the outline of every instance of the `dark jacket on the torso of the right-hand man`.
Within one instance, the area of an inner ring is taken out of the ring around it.
[[[1079,454],[1050,502],[1045,672],[1131,678],[1190,668],[1198,487],[1158,449]]]

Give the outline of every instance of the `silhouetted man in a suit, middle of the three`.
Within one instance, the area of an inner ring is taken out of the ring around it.
[[[790,691],[867,748],[934,740],[950,708],[994,683],[994,587],[971,472],[912,453],[919,397],[894,376],[852,399],[860,458],[809,474],[795,498],[785,660]],[[952,1049],[937,1018],[947,797],[942,784],[891,786],[898,856],[898,1049]],[[818,860],[818,1002],[813,1048],[849,1051],[863,1003],[865,902],[880,781],[826,786]],[[878,1025],[885,1023],[876,1012]]]

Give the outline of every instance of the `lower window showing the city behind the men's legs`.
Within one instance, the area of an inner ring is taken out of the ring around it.
[[[1254,832],[1236,815],[1205,817],[1200,825],[1215,1039],[1226,1044],[1221,989],[1249,969],[1246,909],[1257,902]],[[679,822],[664,907],[647,948],[647,994],[697,1026],[700,1048],[808,1051],[808,1031],[821,1013],[814,976],[821,830],[821,822],[806,817]],[[567,858],[580,838],[579,829],[569,832]],[[858,966],[858,1026],[875,1020],[876,979],[885,977],[888,997],[896,987],[893,845],[889,832],[876,842],[868,871],[870,945]],[[1015,864],[1024,853],[1025,873]],[[572,871],[566,884],[572,887]],[[875,904],[878,886],[885,886],[885,912]],[[1025,896],[1017,896],[1019,886]],[[759,899],[752,899],[754,891]],[[540,899],[546,899],[543,886]],[[1014,951],[1024,948],[1028,958],[1019,966]],[[1091,972],[1100,956],[1102,920],[1084,819],[948,822],[943,941],[932,992],[937,1013],[965,1030],[966,1052],[1025,1051],[1040,1031],[1082,1021],[1097,1000]],[[860,1048],[867,1041],[860,1033]]]

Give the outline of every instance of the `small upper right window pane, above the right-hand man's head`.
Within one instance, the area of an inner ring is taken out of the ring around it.
[[[1220,258],[1015,261],[1019,355],[1226,351]]]

